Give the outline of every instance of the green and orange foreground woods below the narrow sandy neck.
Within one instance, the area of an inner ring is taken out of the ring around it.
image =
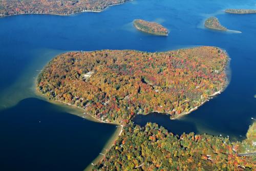
[[[93,170],[255,170],[255,157],[238,157],[235,146],[224,137],[131,124]]]

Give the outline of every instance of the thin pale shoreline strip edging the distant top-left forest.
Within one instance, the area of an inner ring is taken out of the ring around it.
[[[133,0],[127,0],[126,2],[123,2],[123,3],[108,5],[105,8],[103,8],[101,10],[98,10],[98,11],[96,11],[96,10],[82,10],[80,12],[73,12],[73,13],[70,13],[70,14],[41,13],[41,12],[34,12],[33,13],[33,12],[31,12],[31,13],[20,13],[20,14],[11,14],[11,15],[0,15],[0,18],[4,18],[4,17],[8,17],[8,16],[15,16],[15,15],[33,15],[33,14],[57,15],[57,16],[72,16],[72,15],[83,13],[83,12],[96,12],[96,13],[99,13],[99,12],[103,12],[104,10],[108,9],[109,7],[116,6],[116,5],[121,5],[121,4],[124,4],[124,3],[127,3],[127,2],[131,2],[131,1],[133,1]]]

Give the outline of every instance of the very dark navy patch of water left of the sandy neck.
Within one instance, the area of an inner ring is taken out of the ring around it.
[[[0,115],[1,170],[83,170],[116,130],[115,125],[84,120],[36,98]]]

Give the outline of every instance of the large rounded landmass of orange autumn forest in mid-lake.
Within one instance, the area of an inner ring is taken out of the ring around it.
[[[125,124],[153,111],[177,117],[225,87],[227,60],[215,47],[69,52],[42,70],[37,88],[102,121]],[[87,78],[89,71],[94,73]]]

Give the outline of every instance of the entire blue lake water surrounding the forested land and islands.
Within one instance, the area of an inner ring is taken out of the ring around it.
[[[193,131],[245,138],[251,117],[256,117],[256,15],[225,14],[226,8],[256,9],[256,3],[136,0],[101,13],[0,18],[1,167],[81,170],[115,132],[114,125],[69,115],[63,107],[35,94],[34,81],[39,70],[55,55],[66,51],[223,48],[231,58],[230,83],[223,93],[179,120],[152,114],[136,116],[135,122],[157,122],[177,134]],[[242,33],[204,29],[203,21],[209,16],[217,16],[222,25]],[[170,33],[163,37],[139,32],[132,25],[137,18],[156,21]],[[44,119],[42,124],[39,119]],[[17,164],[13,165],[13,161]]]

